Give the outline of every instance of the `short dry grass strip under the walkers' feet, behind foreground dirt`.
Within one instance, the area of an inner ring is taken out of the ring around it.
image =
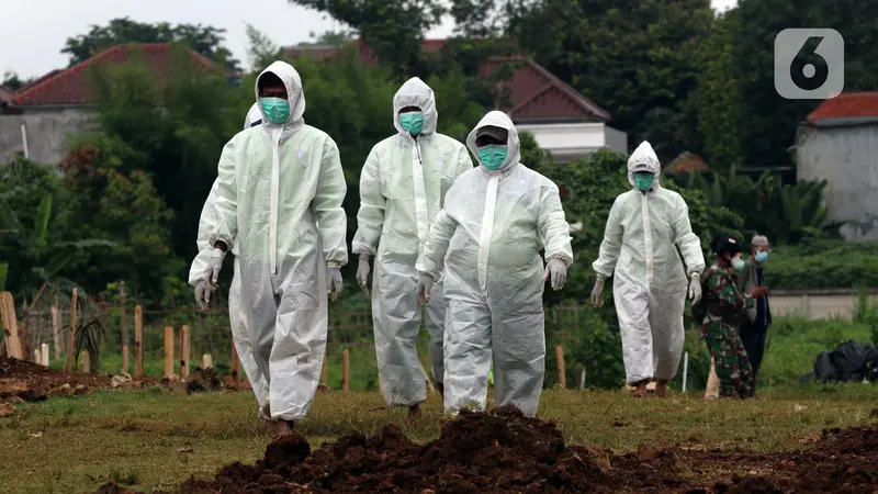
[[[621,392],[548,391],[540,415],[555,419],[570,444],[617,452],[641,446],[795,450],[825,427],[866,424],[878,388],[864,384],[773,390],[764,400],[705,402],[676,394],[634,400]],[[376,393],[317,396],[301,430],[312,446],[352,431],[399,424],[412,438],[439,433],[432,396],[419,422],[387,411]],[[110,481],[151,491],[190,475],[260,458],[270,438],[256,418],[252,395],[181,396],[161,390],[99,391],[93,396],[20,405],[0,419],[0,493],[94,492]]]

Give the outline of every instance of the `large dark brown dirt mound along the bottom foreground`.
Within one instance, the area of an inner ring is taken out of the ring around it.
[[[756,474],[738,476],[732,471]],[[189,493],[871,493],[878,490],[878,427],[826,430],[810,450],[642,449],[626,454],[566,447],[551,423],[513,409],[462,414],[439,439],[417,445],[398,427],[346,436],[311,451],[300,436],[270,444],[255,465],[233,463]],[[133,494],[115,484],[100,494]]]

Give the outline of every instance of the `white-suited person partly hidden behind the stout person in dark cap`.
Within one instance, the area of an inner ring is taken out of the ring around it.
[[[432,89],[417,77],[406,81],[393,98],[396,135],[372,148],[360,176],[361,202],[352,246],[360,256],[357,281],[367,295],[370,260],[375,258],[372,322],[384,402],[408,406],[412,415],[419,414],[420,403],[427,398],[415,348],[421,323],[415,262],[446,192],[458,176],[473,169],[466,147],[438,134],[437,121]],[[440,394],[444,310],[444,300],[436,296],[425,311],[430,367]]]

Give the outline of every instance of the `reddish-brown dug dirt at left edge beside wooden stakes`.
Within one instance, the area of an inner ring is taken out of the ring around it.
[[[126,385],[143,388],[155,382],[155,379],[144,378]],[[113,378],[85,372],[66,374],[38,363],[0,357],[0,403],[40,402],[58,395],[78,396],[97,388],[113,388]]]

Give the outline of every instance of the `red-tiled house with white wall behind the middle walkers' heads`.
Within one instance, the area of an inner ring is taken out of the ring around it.
[[[361,40],[354,41],[360,61],[375,64],[372,49]],[[438,54],[444,40],[425,40],[424,52]],[[284,48],[288,57],[311,56],[331,59],[338,48],[333,46],[293,46]],[[505,111],[518,131],[533,134],[537,144],[552,153],[555,162],[575,161],[588,153],[609,148],[628,153],[628,134],[609,125],[610,114],[536,61],[520,56],[498,56],[487,59],[480,76],[489,77],[507,64],[515,64],[513,76],[502,82],[498,92],[508,91]]]

